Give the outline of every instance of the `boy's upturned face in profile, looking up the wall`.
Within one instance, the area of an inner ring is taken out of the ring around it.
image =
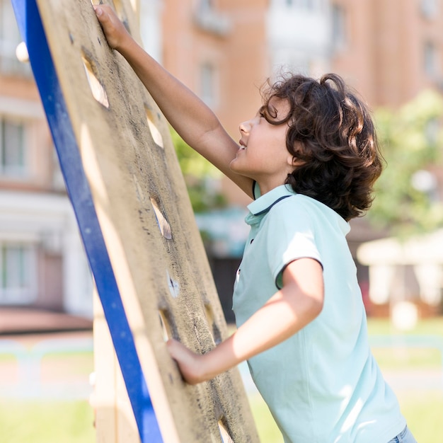
[[[289,104],[272,98],[268,110],[275,120],[282,120]],[[283,185],[287,174],[294,170],[292,155],[286,148],[287,129],[287,123],[272,125],[260,111],[239,126],[240,149],[231,161],[231,170],[257,181],[262,194]]]

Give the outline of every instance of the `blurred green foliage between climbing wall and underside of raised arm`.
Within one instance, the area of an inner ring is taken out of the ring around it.
[[[171,137],[194,212],[224,207],[226,205],[224,196],[217,190],[217,183],[222,173],[197,154],[173,128],[171,128]]]

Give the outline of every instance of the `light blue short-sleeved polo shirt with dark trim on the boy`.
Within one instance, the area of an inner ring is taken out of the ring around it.
[[[277,292],[291,261],[313,258],[323,267],[321,314],[248,361],[284,442],[389,442],[406,422],[369,350],[362,294],[345,238],[349,224],[287,185],[248,209],[251,233],[234,285],[237,326]]]

